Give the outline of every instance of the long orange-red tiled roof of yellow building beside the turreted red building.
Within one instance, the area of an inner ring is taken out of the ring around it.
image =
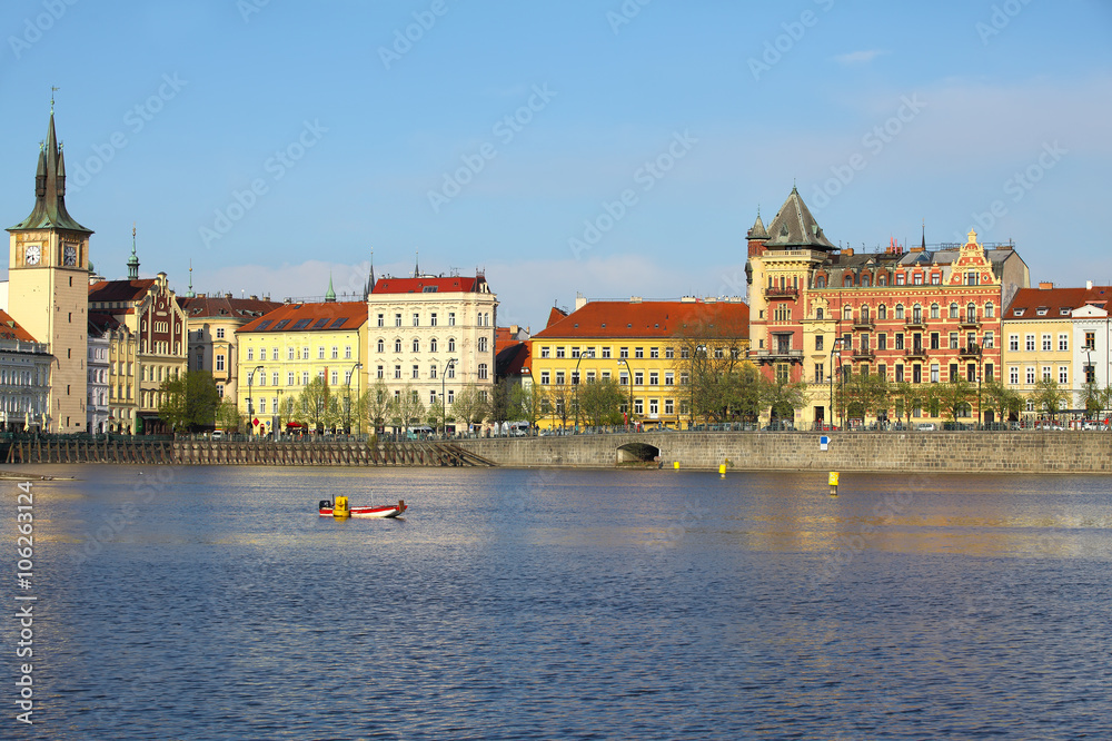
[[[733,302],[588,302],[549,324],[534,339],[674,337],[685,326],[696,325],[716,326],[732,337],[748,337],[749,307]]]

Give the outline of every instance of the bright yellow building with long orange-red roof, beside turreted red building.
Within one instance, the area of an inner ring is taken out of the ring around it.
[[[574,421],[580,379],[610,378],[629,394],[622,412],[631,422],[679,428],[691,423],[692,344],[714,338],[714,352],[742,357],[748,349],[749,307],[739,298],[588,302],[580,296],[574,312],[553,309],[548,320],[533,337],[530,357],[533,379],[548,397],[542,428]]]

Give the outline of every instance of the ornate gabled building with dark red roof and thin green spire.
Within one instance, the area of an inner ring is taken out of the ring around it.
[[[100,280],[88,287],[89,312],[107,314],[125,325],[136,339],[138,389],[136,392],[135,434],[169,432],[159,417],[165,392],[162,383],[180,378],[186,372],[186,315],[178,305],[166,273],[153,278],[139,278],[139,258],[132,229],[131,257],[127,280]],[[109,384],[111,385],[111,346],[109,348]],[[117,354],[116,370],[125,375],[129,360]],[[111,396],[109,396],[111,403]]]

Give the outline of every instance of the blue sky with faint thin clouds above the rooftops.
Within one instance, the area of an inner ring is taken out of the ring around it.
[[[51,88],[98,273],[359,294],[483,270],[498,323],[744,296],[796,186],[824,233],[1013,240],[1112,283],[1109,0],[8,0],[0,210],[33,206]],[[925,225],[925,227],[924,227]]]

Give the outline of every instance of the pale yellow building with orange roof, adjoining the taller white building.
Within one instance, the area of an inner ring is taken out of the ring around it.
[[[239,327],[231,354],[237,404],[255,434],[286,429],[298,395],[315,378],[339,405],[321,413],[326,426],[356,429],[355,402],[367,388],[366,324],[366,303],[322,302],[286,304]]]

